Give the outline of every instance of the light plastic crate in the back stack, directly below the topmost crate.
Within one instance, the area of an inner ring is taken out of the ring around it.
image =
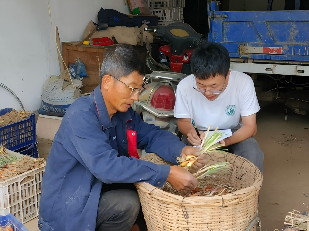
[[[181,7],[175,7],[171,9],[153,9],[150,10],[150,14],[157,15],[159,22],[169,22],[184,19],[184,11]]]

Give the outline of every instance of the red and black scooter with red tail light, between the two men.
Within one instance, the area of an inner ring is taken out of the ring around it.
[[[160,63],[151,56],[151,45],[146,41],[148,57],[146,65],[153,72],[145,75],[143,91],[133,109],[141,114],[149,124],[177,133],[177,119],[174,117],[176,86],[187,75],[191,74],[190,56],[193,49],[205,42],[203,35],[198,34],[191,26],[183,22],[158,26],[155,29],[145,28],[163,41],[170,44],[159,48]]]

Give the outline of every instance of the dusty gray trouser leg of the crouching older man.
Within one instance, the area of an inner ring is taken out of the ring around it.
[[[130,189],[117,189],[100,195],[96,230],[129,231],[140,210],[138,193]]]

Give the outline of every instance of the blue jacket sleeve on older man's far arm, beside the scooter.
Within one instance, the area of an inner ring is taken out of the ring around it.
[[[161,130],[159,126],[147,124],[132,109],[129,112],[132,116],[132,127],[137,132],[137,148],[145,149],[147,153],[157,153],[164,160],[178,165],[176,157],[180,156],[186,145],[173,133]]]

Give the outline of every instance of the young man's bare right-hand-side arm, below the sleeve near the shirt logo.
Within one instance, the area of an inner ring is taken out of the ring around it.
[[[256,114],[241,117],[243,126],[239,128],[232,136],[227,137],[220,143],[229,146],[246,140],[256,134]]]

